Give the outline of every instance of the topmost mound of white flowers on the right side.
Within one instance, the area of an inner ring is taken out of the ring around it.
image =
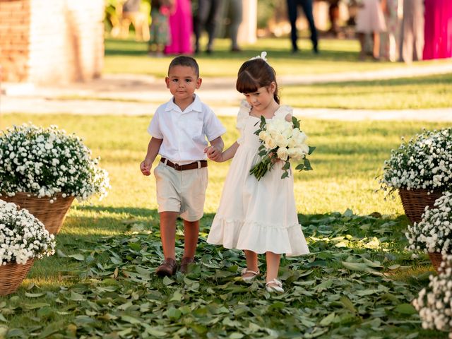
[[[452,190],[452,129],[424,131],[403,141],[384,162],[381,189]]]

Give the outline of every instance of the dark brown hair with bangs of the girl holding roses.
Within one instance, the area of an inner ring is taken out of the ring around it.
[[[278,83],[276,82],[276,72],[267,61],[263,59],[251,59],[245,61],[237,74],[235,88],[240,93],[253,93],[261,87],[268,87],[272,82],[276,84],[273,97],[275,102],[280,103],[278,96]]]

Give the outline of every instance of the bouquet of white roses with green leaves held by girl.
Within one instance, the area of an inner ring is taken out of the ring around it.
[[[315,147],[308,146],[306,134],[299,129],[299,120],[292,117],[292,122],[284,119],[271,119],[266,121],[261,117],[259,129],[254,132],[259,136],[261,145],[258,148],[258,155],[261,160],[249,171],[256,179],[260,180],[266,172],[272,169],[275,160],[282,160],[284,173],[281,179],[289,177],[289,160],[304,161],[297,165],[295,169],[299,171],[312,169],[307,155],[314,152]]]

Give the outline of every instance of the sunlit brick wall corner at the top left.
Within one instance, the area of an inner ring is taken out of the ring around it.
[[[67,83],[100,76],[103,14],[104,0],[0,0],[2,80]],[[5,24],[4,17],[15,20]]]

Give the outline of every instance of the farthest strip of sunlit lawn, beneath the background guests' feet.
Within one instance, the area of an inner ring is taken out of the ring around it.
[[[256,44],[244,45],[244,52],[230,52],[230,40],[215,40],[213,54],[198,54],[196,60],[203,78],[235,77],[240,65],[267,51],[268,61],[278,75],[324,74],[340,72],[375,71],[400,67],[422,67],[432,64],[450,63],[448,60],[421,61],[414,66],[391,62],[359,62],[357,40],[321,40],[320,54],[311,52],[310,40],[299,40],[301,52],[292,54],[289,38],[259,39]],[[158,78],[167,75],[169,61],[172,57],[150,58],[145,42],[133,40],[105,40],[104,73],[148,74]]]

